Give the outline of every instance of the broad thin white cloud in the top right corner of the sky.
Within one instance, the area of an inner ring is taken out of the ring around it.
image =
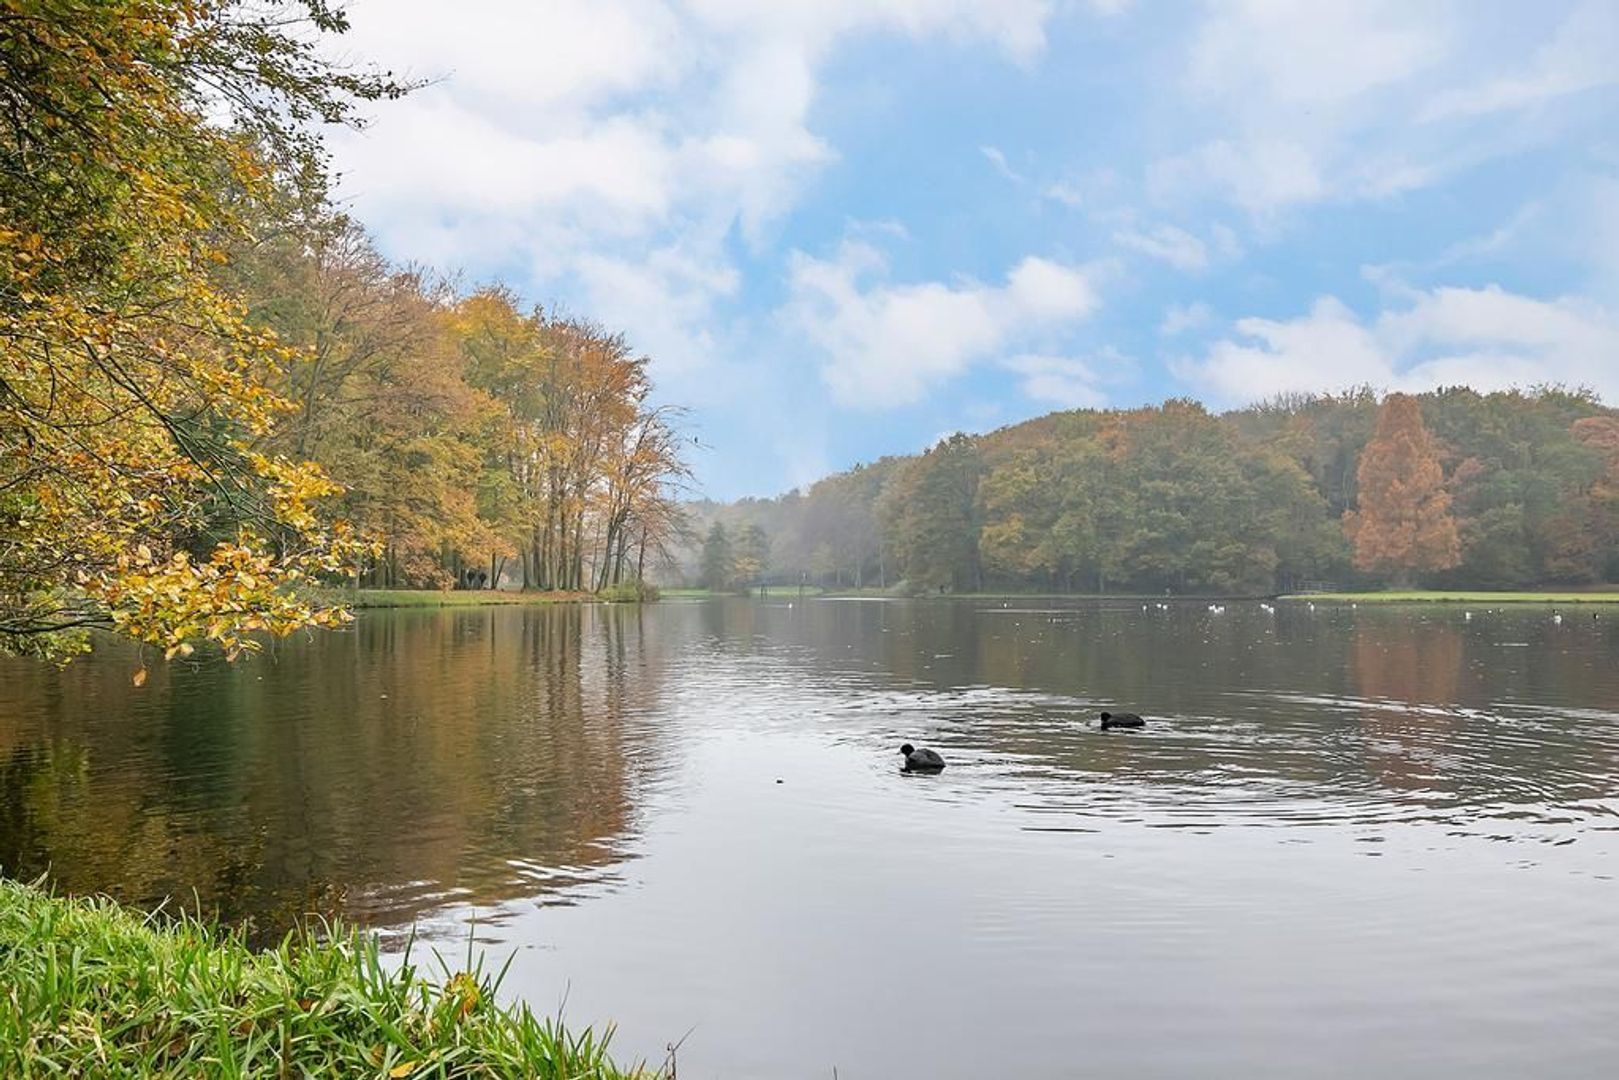
[[[1261,227],[1433,188],[1556,138],[1567,108],[1506,113],[1619,86],[1616,55],[1611,0],[1209,2],[1182,57],[1187,144],[1148,167],[1148,188],[1159,202],[1230,202]],[[1600,130],[1600,107],[1587,113]]]

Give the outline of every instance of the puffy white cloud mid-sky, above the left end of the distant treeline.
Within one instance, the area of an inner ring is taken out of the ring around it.
[[[1041,330],[1098,304],[1086,272],[1026,257],[1005,285],[971,280],[889,285],[882,256],[845,243],[837,259],[793,257],[787,322],[826,356],[821,374],[843,405],[908,405]]]

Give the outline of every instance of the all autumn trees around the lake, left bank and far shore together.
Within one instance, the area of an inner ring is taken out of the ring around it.
[[[1619,578],[1619,415],[1579,390],[1057,413],[780,499],[690,502],[682,413],[633,342],[393,264],[334,202],[319,126],[413,89],[325,58],[340,13],[131,0],[3,19],[10,651],[112,628],[233,656],[346,619],[311,585]]]

